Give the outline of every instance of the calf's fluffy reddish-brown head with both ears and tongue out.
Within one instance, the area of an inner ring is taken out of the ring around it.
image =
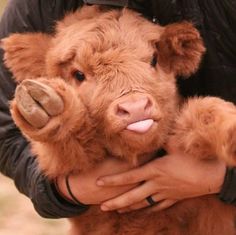
[[[178,107],[175,78],[194,73],[204,52],[190,23],[161,27],[128,9],[98,7],[68,14],[53,35],[11,35],[3,48],[18,82],[60,77],[73,86],[118,156],[163,145]]]

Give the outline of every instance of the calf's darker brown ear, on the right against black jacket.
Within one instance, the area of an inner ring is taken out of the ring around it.
[[[158,62],[164,71],[183,77],[196,72],[205,52],[199,32],[189,22],[164,27],[156,47]]]

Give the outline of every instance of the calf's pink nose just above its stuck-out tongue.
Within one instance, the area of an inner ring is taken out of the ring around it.
[[[152,107],[152,101],[148,97],[136,97],[118,103],[116,115],[132,123],[150,118]]]

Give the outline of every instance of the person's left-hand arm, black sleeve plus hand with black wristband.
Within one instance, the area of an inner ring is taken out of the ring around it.
[[[0,38],[13,32],[51,32],[57,19],[81,4],[78,0],[11,0],[0,23]],[[69,184],[76,201],[68,193],[66,177],[59,177],[56,184],[43,176],[30,152],[30,144],[10,116],[9,100],[16,84],[3,65],[3,51],[0,53],[0,171],[14,180],[19,191],[32,200],[36,211],[43,217],[72,217],[85,211],[86,205],[100,204],[130,190],[133,185],[106,189],[96,185],[99,176],[130,168],[116,159],[107,159],[84,174],[70,175]]]

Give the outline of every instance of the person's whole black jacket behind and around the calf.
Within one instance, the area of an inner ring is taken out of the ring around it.
[[[117,5],[118,1],[84,1]],[[236,103],[236,2],[235,0],[131,0],[119,1],[165,25],[191,20],[200,30],[207,54],[197,74],[179,79],[183,96],[213,95]],[[0,22],[0,38],[14,32],[53,32],[55,21],[65,12],[83,5],[79,0],[9,0]],[[43,217],[70,217],[86,210],[67,202],[39,171],[29,144],[9,114],[15,83],[2,63],[0,51],[0,171],[11,177],[20,192],[33,202]],[[49,156],[50,157],[50,156]],[[236,204],[236,170],[228,169],[220,193],[225,202]]]

